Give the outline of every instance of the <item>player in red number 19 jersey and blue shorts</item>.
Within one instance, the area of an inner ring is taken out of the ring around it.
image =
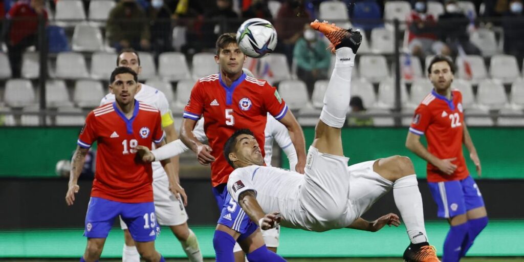
[[[65,195],[65,201],[72,205],[74,193],[80,189],[77,181],[85,154],[96,141],[95,179],[85,217],[88,246],[80,261],[100,258],[105,238],[118,215],[126,222],[142,258],[165,261],[155,250],[160,228],[155,218],[151,163],[136,160],[137,146],[150,148],[153,142],[162,145],[160,112],[135,100],[138,80],[132,69],[116,68],[110,83],[116,102],[96,108],[85,119]],[[163,161],[162,166],[167,163],[169,160]]]

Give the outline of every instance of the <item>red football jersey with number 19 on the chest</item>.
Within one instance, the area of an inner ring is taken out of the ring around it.
[[[130,119],[116,102],[96,108],[85,119],[78,145],[91,147],[96,141],[96,171],[91,196],[125,203],[153,201],[151,163],[137,162],[136,147],[151,148],[164,133],[160,112],[135,100]]]

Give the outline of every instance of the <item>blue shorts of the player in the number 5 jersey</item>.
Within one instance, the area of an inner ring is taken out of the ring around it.
[[[240,205],[227,193],[226,184],[220,184],[213,188],[216,203],[221,210],[220,219],[217,223],[225,225],[240,233],[237,241],[240,241],[257,230],[258,225],[253,223],[246,215]]]

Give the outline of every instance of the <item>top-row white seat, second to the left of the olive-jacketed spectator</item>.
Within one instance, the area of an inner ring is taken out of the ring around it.
[[[58,1],[54,14],[56,24],[73,27],[85,21],[85,11],[81,0]]]

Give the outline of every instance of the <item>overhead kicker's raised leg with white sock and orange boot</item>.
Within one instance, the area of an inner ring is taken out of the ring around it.
[[[315,128],[312,146],[319,152],[343,156],[341,128],[346,121],[350,104],[351,72],[355,54],[362,42],[359,31],[342,29],[326,21],[315,20],[311,27],[321,31],[332,43],[335,50],[335,68],[324,95],[324,106],[320,121]]]

